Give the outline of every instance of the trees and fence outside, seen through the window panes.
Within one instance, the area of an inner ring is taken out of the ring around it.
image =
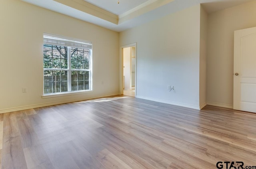
[[[68,73],[71,73],[71,91],[90,89],[90,49],[69,49],[70,54],[66,46],[44,44],[44,94],[67,92]]]

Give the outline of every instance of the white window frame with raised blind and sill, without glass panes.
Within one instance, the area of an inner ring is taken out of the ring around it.
[[[81,39],[75,39],[71,37],[65,37],[61,35],[55,35],[51,33],[44,33],[44,44],[58,45],[68,47],[68,68],[67,69],[56,69],[56,68],[43,68],[44,71],[68,71],[68,91],[67,92],[54,92],[44,94],[44,80],[43,80],[43,95],[42,98],[51,98],[57,96],[68,96],[73,94],[83,94],[92,92],[92,42],[84,41]],[[89,49],[89,69],[71,69],[71,47]],[[71,91],[71,71],[88,71],[89,72],[89,89],[87,90],[75,90]],[[44,77],[43,71],[43,77]]]

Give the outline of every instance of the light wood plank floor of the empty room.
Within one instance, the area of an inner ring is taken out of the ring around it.
[[[115,96],[5,113],[2,169],[256,165],[256,114]]]

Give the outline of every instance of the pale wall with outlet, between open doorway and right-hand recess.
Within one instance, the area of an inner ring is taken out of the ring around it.
[[[137,97],[199,108],[200,5],[120,33],[135,42]]]

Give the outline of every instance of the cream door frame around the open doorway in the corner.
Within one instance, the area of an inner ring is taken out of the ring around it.
[[[124,94],[123,89],[123,79],[124,79],[124,48],[126,47],[135,47],[135,97],[136,97],[136,91],[137,91],[137,43],[130,43],[128,45],[120,46],[120,54],[119,54],[119,91],[120,94]]]

